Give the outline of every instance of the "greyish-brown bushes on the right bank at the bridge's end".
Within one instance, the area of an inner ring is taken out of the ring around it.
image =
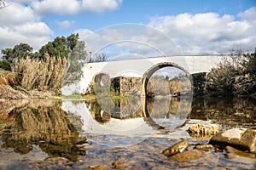
[[[253,54],[236,50],[207,75],[207,93],[256,95],[256,48]]]

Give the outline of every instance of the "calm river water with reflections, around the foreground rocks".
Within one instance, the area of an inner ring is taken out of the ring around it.
[[[247,98],[62,99],[0,101],[0,169],[255,169],[255,158],[225,150],[173,161],[161,151],[190,136],[192,124],[219,131],[256,128]]]

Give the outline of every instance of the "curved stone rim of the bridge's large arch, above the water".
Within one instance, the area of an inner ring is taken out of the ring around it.
[[[151,68],[148,69],[148,71],[146,71],[143,75],[143,86],[142,86],[142,97],[146,98],[147,96],[147,88],[148,88],[148,81],[150,79],[150,77],[152,77],[152,75],[154,74],[155,71],[160,70],[161,68],[167,67],[167,66],[172,66],[172,67],[176,67],[182,71],[184,71],[187,75],[187,77],[189,77],[189,71],[186,71],[183,67],[175,64],[175,63],[171,63],[171,62],[164,62],[164,63],[158,63],[156,65],[153,65]],[[192,84],[192,83],[191,83]]]

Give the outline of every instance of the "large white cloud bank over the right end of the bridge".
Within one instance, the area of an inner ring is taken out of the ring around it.
[[[235,16],[216,13],[153,17],[148,26],[166,33],[183,54],[224,54],[231,48],[252,51],[256,47],[256,8]]]

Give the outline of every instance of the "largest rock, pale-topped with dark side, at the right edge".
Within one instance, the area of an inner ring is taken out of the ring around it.
[[[256,129],[233,128],[213,136],[209,143],[256,152]]]

